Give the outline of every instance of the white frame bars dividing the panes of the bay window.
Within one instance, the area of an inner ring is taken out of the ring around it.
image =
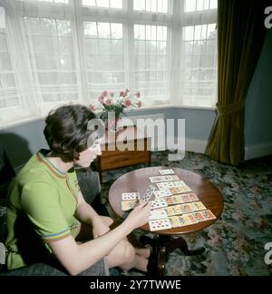
[[[5,4],[5,1],[0,0],[0,5]],[[24,5],[25,8],[24,9]],[[217,9],[212,9],[209,11],[195,11],[195,12],[184,12],[185,0],[169,0],[168,13],[154,13],[154,12],[141,12],[133,9],[133,1],[122,0],[122,8],[107,8],[107,7],[91,7],[83,6],[82,2],[79,0],[69,0],[68,4],[61,3],[46,3],[41,2],[39,5],[39,11],[43,12],[44,18],[58,19],[58,20],[68,20],[71,21],[73,27],[73,54],[75,71],[77,77],[77,91],[79,101],[78,103],[92,103],[96,101],[96,97],[90,97],[89,95],[89,83],[88,83],[88,68],[84,64],[86,60],[86,52],[84,48],[84,22],[105,22],[105,23],[119,23],[123,25],[123,44],[124,44],[124,71],[125,71],[125,81],[127,87],[135,89],[134,80],[134,25],[161,25],[167,26],[167,97],[165,97],[164,105],[167,107],[169,105],[173,107],[189,107],[189,108],[208,108],[214,109],[215,103],[210,103],[210,107],[202,107],[198,105],[189,105],[183,101],[177,101],[179,92],[177,91],[177,85],[179,84],[180,78],[180,67],[179,64],[175,64],[173,61],[178,61],[180,58],[180,52],[182,47],[182,29],[184,26],[188,25],[209,25],[217,24]],[[3,5],[5,9],[8,9]],[[36,3],[29,3],[21,1],[15,1],[16,16],[20,17],[19,23],[24,24],[23,17],[41,17],[37,15],[35,9]],[[27,11],[25,14],[24,12]],[[153,21],[155,19],[156,21]],[[24,26],[21,28],[24,31]],[[26,32],[24,31],[24,46],[27,48]],[[8,43],[8,42],[7,42]],[[11,52],[13,48],[11,47]],[[10,53],[12,55],[12,53]],[[30,54],[30,53],[28,53]],[[26,56],[27,58],[27,56]],[[30,56],[29,60],[26,61],[31,64]],[[12,62],[12,61],[11,61]],[[31,75],[34,68],[31,68]],[[18,76],[17,76],[18,78]],[[20,93],[20,81],[16,80],[17,92],[19,94],[18,111],[25,108],[26,100],[24,99],[24,94]],[[215,81],[217,83],[217,80]],[[36,87],[33,77],[33,86]],[[107,89],[105,89],[107,90]],[[135,89],[138,90],[138,89]],[[34,90],[35,99],[34,108],[35,111],[30,111],[29,115],[44,115],[48,111],[58,104],[57,103],[44,103],[41,98],[41,87],[37,87]],[[148,105],[146,108],[156,108],[157,106],[153,103],[153,106]],[[145,107],[143,107],[144,109]],[[6,108],[9,110],[9,108]],[[5,109],[4,109],[5,111]],[[3,110],[0,110],[0,113]],[[27,116],[27,115],[26,115]]]

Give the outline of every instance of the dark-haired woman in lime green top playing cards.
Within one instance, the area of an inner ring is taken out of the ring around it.
[[[89,167],[101,154],[88,122],[95,115],[82,105],[49,113],[44,136],[50,151],[41,150],[13,181],[8,200],[7,268],[43,262],[71,275],[99,275],[106,269],[147,271],[150,250],[133,248],[126,236],[144,225],[150,205],[139,205],[117,228],[99,216],[79,189],[73,166]]]

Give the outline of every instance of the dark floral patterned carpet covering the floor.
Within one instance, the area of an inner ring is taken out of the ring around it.
[[[190,249],[204,246],[206,252],[185,257],[175,250],[167,262],[166,275],[272,275],[272,265],[264,260],[265,245],[272,242],[272,156],[232,167],[198,153],[188,152],[181,162],[168,162],[167,152],[154,152],[152,166],[179,167],[199,173],[219,188],[225,200],[220,220],[206,230],[185,236]],[[113,181],[141,167],[104,172],[103,199],[107,198]],[[109,206],[107,209],[110,211]],[[133,271],[125,274],[137,275]]]

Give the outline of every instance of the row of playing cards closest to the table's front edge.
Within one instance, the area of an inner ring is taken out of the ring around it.
[[[150,220],[149,225],[151,231],[168,230],[190,226],[206,220],[216,220],[216,217],[211,211],[199,211],[160,220]]]

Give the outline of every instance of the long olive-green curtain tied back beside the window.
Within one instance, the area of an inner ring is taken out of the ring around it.
[[[217,162],[244,160],[245,103],[264,44],[268,1],[219,0],[218,118],[206,154]]]

